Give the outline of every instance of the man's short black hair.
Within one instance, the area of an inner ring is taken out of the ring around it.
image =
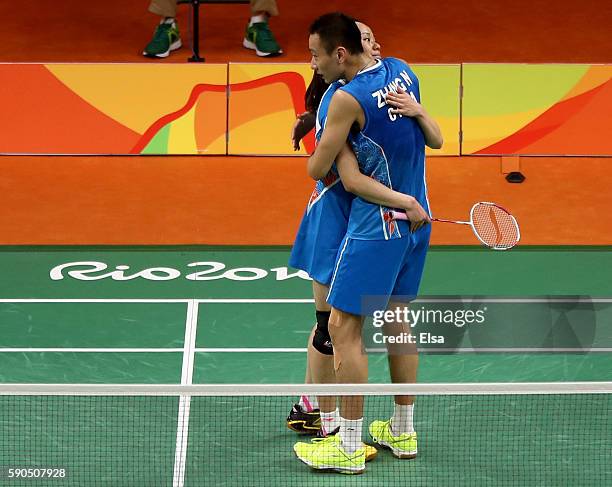
[[[361,32],[355,24],[355,19],[341,12],[321,15],[310,25],[308,32],[310,35],[318,34],[327,54],[331,54],[339,46],[351,54],[363,52]]]

